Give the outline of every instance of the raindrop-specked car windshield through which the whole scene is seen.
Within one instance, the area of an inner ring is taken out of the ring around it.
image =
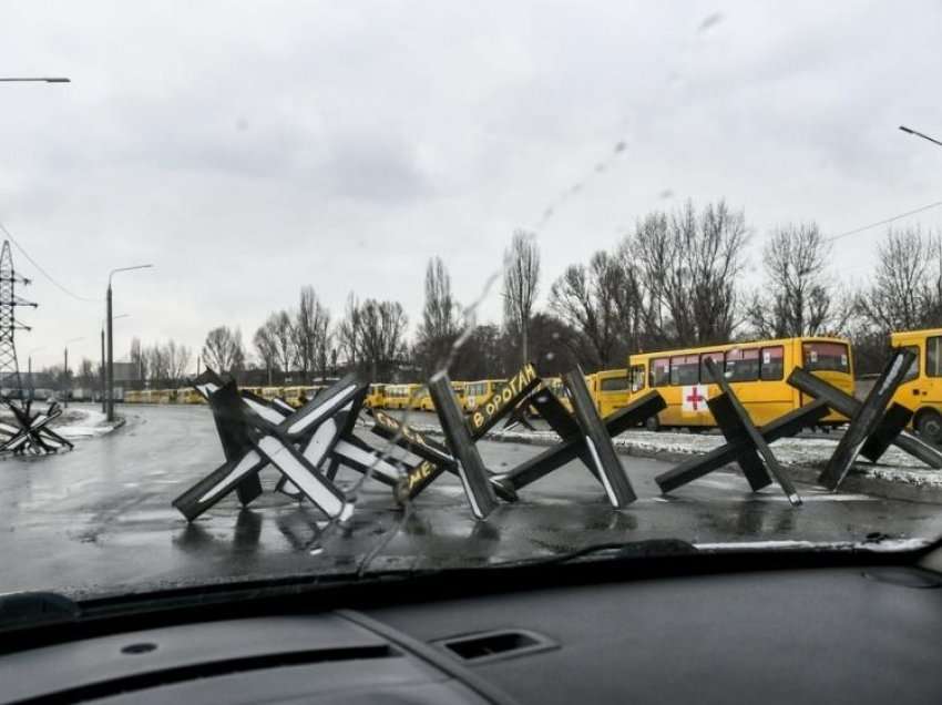
[[[938,2],[0,40],[0,592],[942,534]]]

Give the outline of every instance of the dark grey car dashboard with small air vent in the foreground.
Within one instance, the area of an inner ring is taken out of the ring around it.
[[[942,702],[933,564],[787,563],[597,562],[103,617],[4,637],[0,701]]]

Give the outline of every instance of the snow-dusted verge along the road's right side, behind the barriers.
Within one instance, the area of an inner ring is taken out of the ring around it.
[[[422,428],[422,432],[432,436],[441,436],[441,430],[434,427]],[[488,433],[483,440],[496,441],[499,443],[521,443],[524,446],[554,446],[559,440],[547,436],[530,436],[524,433],[513,433],[505,436],[501,431]],[[653,448],[643,448],[634,445],[627,438],[613,439],[615,451],[620,456],[634,456],[636,458],[651,458],[653,460],[662,460],[665,462],[684,462],[689,460],[693,452],[680,452],[675,450],[658,450]],[[726,466],[735,469],[735,463]],[[789,476],[801,484],[818,484],[818,476],[823,469],[823,463],[818,466],[785,463],[788,468]],[[903,482],[879,477],[881,468],[887,466],[857,466],[854,464],[848,476],[841,483],[841,492],[870,494],[883,499],[902,500],[907,502],[921,502],[923,504],[942,504],[942,486],[933,484],[929,481],[920,482]]]

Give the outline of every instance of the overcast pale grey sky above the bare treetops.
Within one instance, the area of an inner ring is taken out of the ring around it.
[[[541,224],[541,302],[635,219],[725,197],[836,234],[942,200],[942,3],[4,2],[0,222],[40,304],[21,369],[96,358],[107,272],[132,336],[250,340],[313,284],[396,298],[426,262],[475,298]],[[163,3],[161,3],[163,4]],[[170,3],[167,3],[170,4]],[[614,146],[624,142],[623,152]],[[597,165],[602,171],[597,171]],[[901,221],[942,225],[942,208]],[[863,280],[884,229],[842,241]],[[496,320],[498,289],[483,307]]]

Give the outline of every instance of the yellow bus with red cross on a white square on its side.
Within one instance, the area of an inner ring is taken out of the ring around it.
[[[752,421],[762,426],[810,401],[785,380],[795,367],[853,395],[853,360],[843,338],[782,338],[702,348],[632,355],[628,358],[631,399],[655,389],[667,408],[647,421],[647,428],[716,426],[706,401],[719,392],[710,384],[704,360],[713,358],[724,370]],[[821,426],[844,423],[829,413]]]

